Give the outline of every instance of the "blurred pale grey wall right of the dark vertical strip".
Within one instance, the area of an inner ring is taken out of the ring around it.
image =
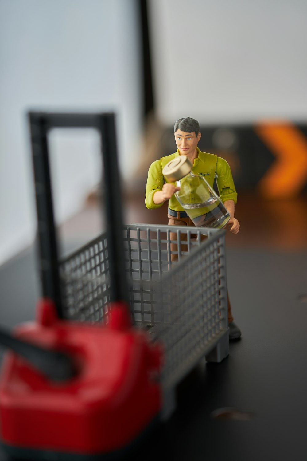
[[[150,0],[157,115],[307,120],[306,0]]]

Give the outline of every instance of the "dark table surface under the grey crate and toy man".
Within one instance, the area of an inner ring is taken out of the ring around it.
[[[227,248],[241,341],[220,364],[201,364],[180,384],[177,410],[134,460],[307,459],[307,248],[252,243]],[[33,247],[0,267],[1,325],[34,318],[37,274]],[[216,419],[220,408],[242,413]]]

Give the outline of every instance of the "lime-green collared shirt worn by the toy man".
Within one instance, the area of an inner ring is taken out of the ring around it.
[[[217,157],[214,154],[207,154],[206,152],[201,152],[197,148],[197,158],[194,160],[192,172],[203,176],[206,181],[213,187],[214,179],[216,180],[217,188],[220,195],[220,200],[224,203],[226,200],[233,200],[234,203],[237,203],[237,192],[233,183],[232,173],[230,167],[226,160],[221,157]],[[158,190],[162,190],[164,182],[167,182],[162,175],[163,166],[172,160],[175,157],[178,157],[179,150],[174,154],[168,155],[167,157],[162,157],[159,160],[153,162],[148,171],[148,178],[146,184],[146,194],[145,194],[145,205],[147,208],[155,209],[161,207],[163,204],[156,205],[153,201],[153,196]],[[212,165],[215,165],[216,168]],[[162,166],[163,165],[163,166]],[[179,201],[173,195],[168,201],[168,207],[175,211],[183,211]]]

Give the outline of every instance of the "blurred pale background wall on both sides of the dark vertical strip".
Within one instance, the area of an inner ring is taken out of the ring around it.
[[[162,123],[307,121],[306,0],[149,0],[149,13]],[[116,111],[122,175],[133,174],[141,145],[137,19],[134,0],[0,0],[0,262],[35,235],[30,108]],[[98,181],[98,140],[55,132],[50,142],[61,221]]]

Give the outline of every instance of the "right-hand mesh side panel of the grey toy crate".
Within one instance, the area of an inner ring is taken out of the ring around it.
[[[162,371],[165,388],[174,386],[208,354],[227,329],[224,237],[208,239],[184,264],[157,284],[157,318],[150,331],[166,351]],[[156,329],[156,332],[155,332]]]

